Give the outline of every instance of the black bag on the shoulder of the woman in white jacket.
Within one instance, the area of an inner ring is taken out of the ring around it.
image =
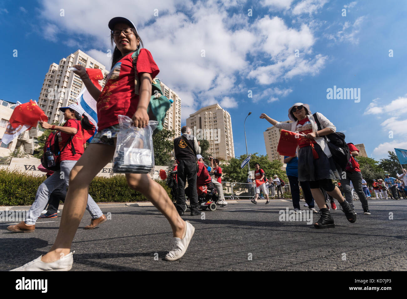
[[[321,124],[319,123],[318,120],[317,113],[314,113],[313,117],[315,119],[315,122],[317,123],[318,130],[322,130]],[[345,170],[350,160],[350,151],[348,144],[346,144],[344,138],[339,136],[337,133],[330,133],[323,137],[325,138],[325,141],[328,144],[329,150],[332,154],[332,158],[334,159],[335,163],[340,168],[342,168],[342,170]],[[329,138],[329,141],[326,139],[326,137]]]

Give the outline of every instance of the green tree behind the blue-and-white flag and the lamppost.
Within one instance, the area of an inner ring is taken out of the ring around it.
[[[254,170],[254,164],[259,163],[260,168],[264,170],[267,179],[273,177],[274,175],[278,175],[279,178],[288,183],[286,173],[284,172],[284,170],[281,170],[282,163],[280,160],[269,161],[267,155],[256,154],[257,153],[254,153],[250,158],[250,170]],[[243,160],[246,158],[246,155],[241,155],[239,158],[230,159],[229,164],[223,166],[222,170],[224,173],[224,177],[222,181],[245,183],[247,180],[248,167],[245,166],[244,168],[241,168],[240,166]]]

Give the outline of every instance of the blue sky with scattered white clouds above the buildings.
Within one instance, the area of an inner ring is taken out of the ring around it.
[[[249,111],[248,150],[265,155],[263,131],[271,125],[258,116],[287,120],[295,102],[323,113],[347,142],[364,143],[369,157],[407,148],[407,2],[95,3],[2,1],[0,98],[37,100],[49,65],[77,49],[108,67],[107,23],[121,15],[136,24],[160,67],[159,78],[182,98],[182,124],[212,103],[229,111],[236,156],[246,152],[243,121]],[[360,88],[360,102],[327,99],[334,85]]]

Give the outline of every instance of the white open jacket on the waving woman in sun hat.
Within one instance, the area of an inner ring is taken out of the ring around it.
[[[312,131],[313,132],[318,131],[318,126],[314,120],[313,115],[309,114],[307,116],[308,116],[309,121],[311,122]],[[321,124],[321,129],[330,128],[333,130],[333,133],[336,132],[336,127],[333,125],[332,122],[330,122],[328,120],[328,118],[326,118],[322,113],[319,113],[319,112],[317,112],[317,116],[318,116],[319,123]],[[291,122],[291,124],[287,124],[286,122],[277,122],[275,127],[277,127],[278,129],[284,129],[287,131],[295,132],[296,128],[297,128],[297,124],[298,124],[298,120],[296,120],[295,122]],[[326,139],[329,141],[328,137],[326,137]],[[322,151],[324,151],[325,155],[328,158],[332,156],[332,154],[329,150],[329,147],[326,144],[324,136],[315,137],[315,142],[317,142],[317,144],[319,146],[321,146]],[[298,157],[298,150],[299,150],[299,147],[297,146],[297,157]]]

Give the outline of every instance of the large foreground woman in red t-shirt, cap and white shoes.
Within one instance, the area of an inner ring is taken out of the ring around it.
[[[112,70],[106,78],[103,90],[100,91],[93,85],[84,68],[76,65],[78,70],[74,71],[97,100],[99,131],[71,171],[70,188],[53,247],[50,252],[26,268],[68,271],[72,267],[70,248],[85,210],[88,187],[96,174],[112,161],[118,132],[118,115],[129,116],[138,128],[144,128],[149,122],[147,108],[151,97],[151,81],[159,72],[158,66],[146,49],[140,50],[137,60],[134,61],[136,65],[133,65],[131,54],[142,46],[142,39],[131,21],[124,17],[115,17],[109,21],[109,28],[112,43],[114,41],[116,46],[112,55]],[[165,259],[181,258],[193,236],[194,227],[182,220],[167,192],[149,175],[127,173],[126,178],[129,187],[144,194],[171,224],[173,249]],[[64,258],[61,258],[61,253],[65,255]],[[44,266],[44,262],[50,264]]]

